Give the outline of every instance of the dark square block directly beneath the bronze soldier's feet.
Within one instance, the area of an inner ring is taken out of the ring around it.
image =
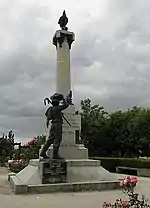
[[[38,167],[42,184],[66,183],[67,163],[64,160],[40,160]]]

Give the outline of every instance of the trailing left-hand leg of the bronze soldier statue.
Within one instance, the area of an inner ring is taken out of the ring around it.
[[[55,138],[55,134],[54,134],[54,126],[52,124],[50,131],[49,131],[49,137],[48,140],[45,142],[42,150],[41,150],[41,154],[40,156],[43,157],[44,159],[48,159],[49,157],[46,155],[46,151],[48,150],[48,148],[51,146],[51,144],[53,144],[54,142],[54,138]]]

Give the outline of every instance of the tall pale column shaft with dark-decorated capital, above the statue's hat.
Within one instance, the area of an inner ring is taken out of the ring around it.
[[[71,90],[70,49],[73,41],[74,33],[66,30],[57,30],[53,37],[57,50],[56,92],[65,97]]]

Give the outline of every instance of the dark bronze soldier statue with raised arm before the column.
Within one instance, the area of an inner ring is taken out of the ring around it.
[[[51,99],[51,101],[50,101]],[[44,103],[46,105],[46,100],[48,104],[51,103],[52,106],[46,110],[45,116],[47,117],[47,128],[49,126],[49,122],[51,120],[51,128],[49,130],[49,136],[46,140],[40,156],[44,159],[48,159],[49,157],[46,154],[48,148],[53,144],[53,159],[63,159],[59,156],[59,146],[62,141],[62,124],[63,124],[63,113],[70,103],[70,96],[68,95],[65,99],[62,94],[55,93],[51,98],[45,98]],[[60,104],[60,101],[62,103]]]

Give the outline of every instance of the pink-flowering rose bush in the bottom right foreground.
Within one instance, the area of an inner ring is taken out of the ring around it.
[[[137,182],[137,177],[126,176],[120,181],[119,186],[123,193],[129,197],[129,200],[117,199],[114,204],[104,202],[103,208],[149,208],[150,205],[148,204],[148,200],[145,199],[145,196],[142,195],[141,199],[139,199],[139,194],[134,192]]]

